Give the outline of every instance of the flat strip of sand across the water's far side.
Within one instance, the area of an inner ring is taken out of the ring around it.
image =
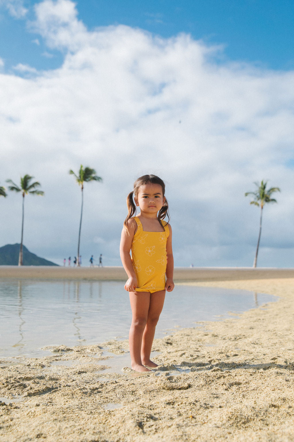
[[[126,281],[123,267],[0,266],[0,279],[87,279]],[[174,281],[235,281],[294,278],[293,268],[253,267],[175,267]]]

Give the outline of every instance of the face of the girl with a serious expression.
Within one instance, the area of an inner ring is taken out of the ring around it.
[[[136,206],[140,207],[141,213],[157,214],[164,204],[162,187],[160,184],[145,184],[140,186],[137,197],[134,198]]]

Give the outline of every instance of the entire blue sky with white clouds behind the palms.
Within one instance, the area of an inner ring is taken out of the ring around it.
[[[166,182],[177,266],[251,266],[268,180],[259,266],[294,267],[293,9],[287,1],[0,0],[0,185],[28,173],[24,244],[62,263],[120,265],[126,195]],[[266,5],[266,7],[265,7]],[[146,32],[147,31],[147,32]],[[21,201],[0,201],[0,246],[20,240]]]

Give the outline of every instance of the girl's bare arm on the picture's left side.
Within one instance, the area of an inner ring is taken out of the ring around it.
[[[125,290],[127,290],[127,292],[134,292],[136,290],[136,287],[138,287],[138,281],[134,271],[132,260],[130,258],[130,248],[132,245],[134,234],[137,230],[136,221],[134,221],[133,219],[129,219],[129,221],[127,222],[127,228],[129,231],[129,235],[123,228],[122,236],[120,239],[119,253],[120,259],[123,263],[123,268],[125,269],[129,277],[125,284]]]

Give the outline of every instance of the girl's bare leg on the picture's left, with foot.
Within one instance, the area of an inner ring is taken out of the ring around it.
[[[150,371],[141,361],[142,336],[147,323],[150,304],[149,292],[130,292],[132,324],[130,326],[129,344],[131,367],[136,371]]]

